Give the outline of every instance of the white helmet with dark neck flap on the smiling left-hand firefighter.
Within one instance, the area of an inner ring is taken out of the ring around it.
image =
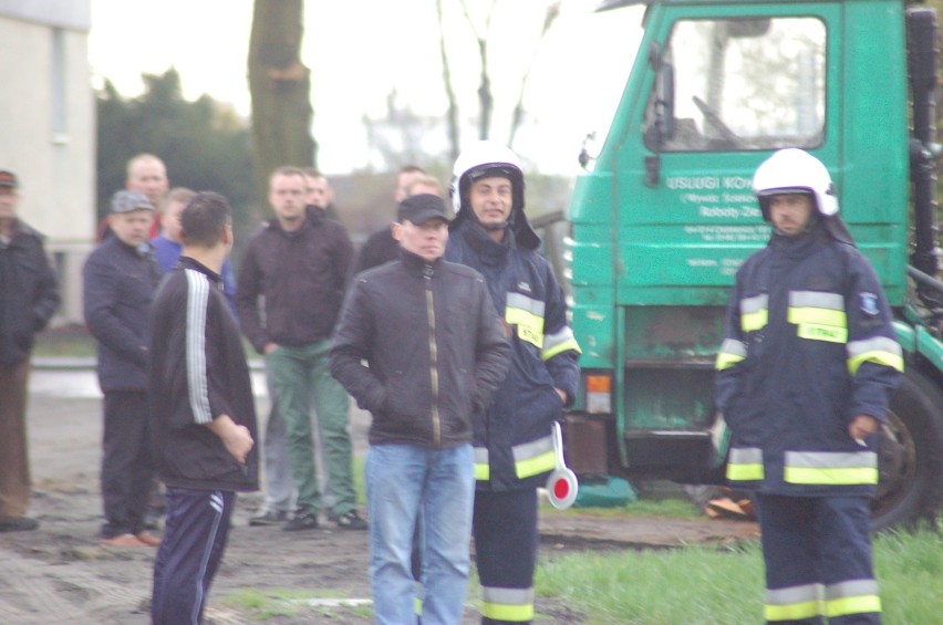
[[[511,181],[511,213],[508,227],[514,231],[519,244],[536,249],[540,244],[540,238],[533,232],[524,213],[525,184],[520,159],[510,148],[497,142],[475,142],[455,159],[448,189],[455,209],[452,228],[458,227],[469,215],[474,216],[472,207],[468,206],[468,188],[475,180],[489,176],[500,176]]]

